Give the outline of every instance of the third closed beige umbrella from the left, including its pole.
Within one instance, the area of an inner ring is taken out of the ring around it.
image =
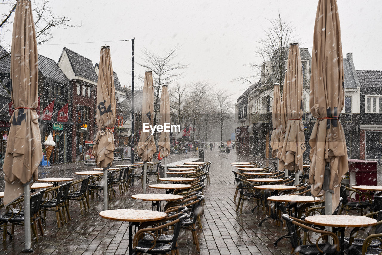
[[[143,83],[143,95],[142,95],[142,125],[153,125],[154,122],[154,85],[152,82],[151,71],[146,71]],[[146,173],[147,162],[152,161],[152,155],[157,151],[155,146],[154,136],[151,132],[141,132],[139,137],[137,153],[138,156],[144,162],[143,165],[143,193],[146,193]]]

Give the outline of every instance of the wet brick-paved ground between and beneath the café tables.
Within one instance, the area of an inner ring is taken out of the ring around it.
[[[197,158],[196,155],[172,155],[169,162]],[[220,154],[216,149],[206,150],[205,161],[213,163],[210,168],[211,184],[207,185],[204,192],[206,200],[201,218],[203,229],[197,230],[200,254],[290,254],[289,240],[273,247],[273,242],[286,232],[270,221],[259,227],[259,220],[264,218],[264,215],[257,211],[251,214],[250,210],[254,206],[252,203],[244,202],[243,214],[236,213],[236,202],[233,201],[236,184],[233,183],[233,169],[229,162],[237,160],[240,159],[236,158],[235,151]],[[78,179],[79,177],[74,175],[75,171],[91,168],[83,166],[82,163],[63,164],[40,170],[39,176]],[[147,192],[160,193],[163,190],[147,188]],[[142,193],[140,183],[136,182],[127,194],[123,195],[119,194],[117,188],[117,198],[110,201],[109,209],[151,209],[150,202],[132,200],[130,195],[135,193]],[[47,213],[47,221],[44,223],[45,236],[40,236],[38,243],[32,241],[34,254],[128,254],[128,223],[102,219],[98,215],[101,210],[102,201],[94,200],[91,201],[91,209],[81,216],[78,202],[71,201],[72,220],[60,229],[55,223],[55,215]],[[178,245],[180,254],[198,254],[189,231],[181,231]],[[3,242],[0,254],[19,254],[23,247],[23,227],[16,226],[14,239]]]

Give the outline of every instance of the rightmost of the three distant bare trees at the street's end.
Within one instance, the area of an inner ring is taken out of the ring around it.
[[[217,106],[217,116],[220,122],[220,144],[223,144],[223,123],[230,118],[230,109],[232,104],[230,102],[230,95],[227,90],[218,90],[212,92],[215,104]]]

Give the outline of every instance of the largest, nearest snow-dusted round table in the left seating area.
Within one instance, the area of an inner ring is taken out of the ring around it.
[[[101,211],[99,216],[104,219],[129,222],[129,255],[131,255],[133,253],[133,225],[139,227],[140,222],[159,221],[166,218],[167,213],[150,210],[117,209]]]

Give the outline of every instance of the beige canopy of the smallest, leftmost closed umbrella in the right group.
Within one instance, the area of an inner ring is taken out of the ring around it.
[[[272,157],[276,158],[278,154],[278,144],[282,136],[281,130],[281,95],[280,84],[275,83],[273,87],[273,102],[272,102],[272,126],[273,131],[270,136],[270,147],[272,148]]]

